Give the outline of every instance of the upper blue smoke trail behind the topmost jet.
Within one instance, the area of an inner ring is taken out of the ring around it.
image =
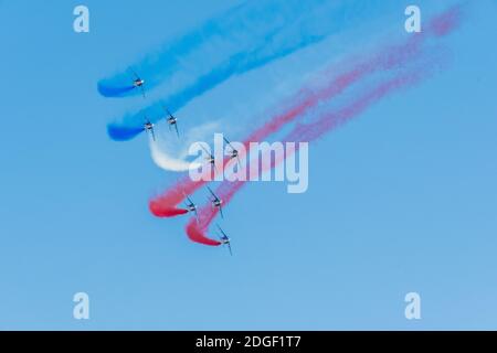
[[[297,21],[307,7],[326,2],[326,0],[257,0],[246,1],[224,13],[207,21],[198,29],[168,42],[161,50],[145,56],[131,68],[146,81],[145,88],[151,90],[163,81],[170,79],[178,72],[181,62],[189,55],[205,52],[210,43],[219,42],[219,52],[226,53],[251,50],[267,33],[284,30]],[[210,53],[210,56],[215,53]],[[136,79],[133,72],[125,72],[102,79],[98,92],[105,97],[127,97],[141,94],[139,89],[125,89]]]

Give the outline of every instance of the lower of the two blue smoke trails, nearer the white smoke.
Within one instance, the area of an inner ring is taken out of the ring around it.
[[[321,4],[321,2],[324,2],[322,6],[316,7],[316,4]],[[383,2],[382,4],[384,6],[389,2]],[[363,14],[372,15],[380,11],[378,3],[370,0],[353,0],[340,4],[326,1],[314,1],[311,3],[297,1],[297,3],[290,3],[293,11],[289,12],[293,13],[295,11],[295,13],[293,17],[287,17],[292,21],[288,21],[281,30],[269,31],[268,34],[257,38],[250,45],[247,44],[243,51],[224,57],[220,63],[214,64],[208,73],[198,75],[190,85],[171,94],[166,99],[157,101],[136,114],[125,116],[121,122],[113,122],[113,130],[135,127],[141,121],[144,116],[150,117],[152,121],[156,121],[161,117],[162,105],[166,105],[171,111],[177,111],[192,99],[235,75],[247,73],[283,58],[324,40],[330,33],[353,28],[361,23],[360,19]],[[288,7],[288,3],[285,1],[283,7]],[[384,8],[382,9],[384,10]],[[297,13],[298,17],[296,17]]]

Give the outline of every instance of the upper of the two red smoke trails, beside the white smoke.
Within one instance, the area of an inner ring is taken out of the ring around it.
[[[251,141],[264,140],[267,136],[277,132],[283,126],[293,122],[300,116],[304,116],[311,108],[316,107],[322,100],[329,100],[338,96],[351,85],[360,82],[377,72],[390,71],[392,68],[401,67],[406,62],[413,61],[421,53],[422,44],[431,39],[445,35],[454,30],[458,23],[456,21],[461,17],[461,8],[454,7],[442,15],[436,17],[431,21],[427,30],[423,34],[414,35],[413,39],[408,40],[401,45],[390,45],[380,50],[378,53],[371,55],[369,58],[361,61],[343,73],[338,74],[330,79],[324,87],[313,89],[311,87],[303,88],[298,92],[290,101],[296,101],[289,108],[273,117],[268,122],[253,131],[245,140],[244,146],[248,148]],[[444,28],[445,31],[437,31],[433,29]],[[443,33],[443,34],[442,34]],[[332,72],[332,69],[328,69]],[[298,140],[298,139],[294,139]],[[225,159],[223,165],[229,161]],[[190,194],[203,186],[205,182],[191,181],[188,175],[182,178],[176,185],[167,190],[163,194],[154,197],[149,202],[149,208],[156,216],[163,216],[168,210],[173,210],[182,200],[183,194],[178,190],[183,190],[184,193]]]

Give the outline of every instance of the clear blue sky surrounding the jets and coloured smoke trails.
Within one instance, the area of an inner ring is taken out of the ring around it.
[[[411,2],[229,79],[180,111],[182,128],[214,119],[243,137],[319,67],[405,36]],[[425,17],[453,2],[419,1]],[[222,223],[230,257],[149,214],[180,174],[144,136],[107,137],[144,101],[96,84],[233,3],[85,1],[86,34],[72,29],[80,2],[0,3],[0,329],[495,329],[495,1],[470,8],[440,74],[310,145],[307,193],[244,188]],[[78,291],[88,321],[72,317]],[[410,291],[420,321],[404,318]]]

